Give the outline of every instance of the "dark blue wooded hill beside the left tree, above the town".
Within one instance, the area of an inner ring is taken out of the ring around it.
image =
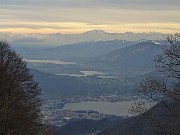
[[[84,95],[88,93],[89,85],[69,76],[57,76],[31,69],[35,80],[39,82],[42,94],[48,98],[61,96]]]

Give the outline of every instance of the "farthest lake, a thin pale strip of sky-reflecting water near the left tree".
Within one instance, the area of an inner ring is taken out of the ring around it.
[[[75,62],[64,62],[60,60],[27,60],[25,61],[30,62],[30,63],[45,63],[45,64],[59,64],[59,65],[74,65],[76,64]]]

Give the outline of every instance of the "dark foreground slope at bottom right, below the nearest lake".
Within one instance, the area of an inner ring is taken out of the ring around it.
[[[142,115],[130,117],[123,121],[113,123],[104,128],[104,130],[97,135],[165,135],[165,133],[162,133],[159,129],[155,128],[155,126],[152,125],[154,121],[151,121],[146,116],[148,114],[156,114],[156,120],[163,122],[164,128],[168,129],[168,127],[172,126],[168,123],[173,122],[175,117],[169,116],[169,108],[165,106],[166,104],[168,104],[171,109],[176,108],[176,113],[180,112],[180,105],[178,102],[165,101],[165,103],[158,103]],[[175,123],[174,121],[174,124],[179,126],[180,123]]]

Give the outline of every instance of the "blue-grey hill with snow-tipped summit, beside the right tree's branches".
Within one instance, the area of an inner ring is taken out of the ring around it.
[[[153,58],[161,50],[162,45],[146,41],[115,50],[99,60],[124,74],[144,74],[154,69]]]

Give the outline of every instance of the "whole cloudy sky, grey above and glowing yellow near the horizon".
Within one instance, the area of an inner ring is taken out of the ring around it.
[[[180,30],[180,0],[0,0],[0,32]]]

